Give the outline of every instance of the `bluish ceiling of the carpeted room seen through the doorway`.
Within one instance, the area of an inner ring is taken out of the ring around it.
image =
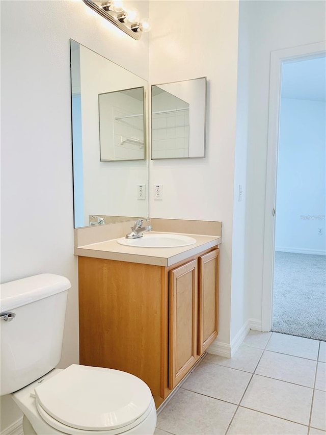
[[[326,101],[326,57],[283,63],[282,98]]]

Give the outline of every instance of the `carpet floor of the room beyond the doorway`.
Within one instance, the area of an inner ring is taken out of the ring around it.
[[[326,255],[275,253],[272,330],[326,341]]]

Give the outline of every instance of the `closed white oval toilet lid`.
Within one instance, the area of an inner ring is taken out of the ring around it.
[[[57,421],[96,431],[129,425],[152,400],[146,383],[130,373],[75,364],[42,383],[35,395]]]

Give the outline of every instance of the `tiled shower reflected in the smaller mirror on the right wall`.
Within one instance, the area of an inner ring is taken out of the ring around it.
[[[152,109],[153,158],[171,159],[188,157],[188,103],[168,92],[161,92],[154,95]]]

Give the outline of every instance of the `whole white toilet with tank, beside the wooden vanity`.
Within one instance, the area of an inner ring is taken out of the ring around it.
[[[70,282],[53,274],[1,286],[1,395],[12,393],[25,435],[152,435],[155,403],[136,376],[61,359]]]

